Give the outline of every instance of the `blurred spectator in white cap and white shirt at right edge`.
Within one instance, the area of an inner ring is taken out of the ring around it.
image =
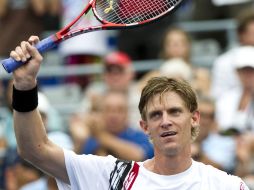
[[[233,66],[241,88],[232,89],[219,98],[216,118],[221,130],[238,133],[233,137],[236,140],[235,174],[250,185],[254,183],[254,46],[238,48]]]

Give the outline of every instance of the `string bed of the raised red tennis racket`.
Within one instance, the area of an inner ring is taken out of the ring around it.
[[[107,22],[132,24],[159,17],[182,0],[97,0],[96,12]]]

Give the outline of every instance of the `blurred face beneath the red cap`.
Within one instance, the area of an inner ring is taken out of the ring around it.
[[[133,72],[129,66],[112,64],[106,66],[104,77],[111,90],[125,91],[132,81]]]

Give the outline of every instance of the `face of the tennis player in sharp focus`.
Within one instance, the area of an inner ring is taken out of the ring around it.
[[[156,95],[147,105],[141,127],[154,144],[155,154],[168,156],[190,152],[191,128],[199,122],[199,112],[191,113],[175,92]]]

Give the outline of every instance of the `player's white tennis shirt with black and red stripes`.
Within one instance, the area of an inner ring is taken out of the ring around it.
[[[148,171],[143,162],[64,154],[71,185],[56,179],[59,190],[249,190],[240,178],[196,161],[182,173],[164,176]]]

